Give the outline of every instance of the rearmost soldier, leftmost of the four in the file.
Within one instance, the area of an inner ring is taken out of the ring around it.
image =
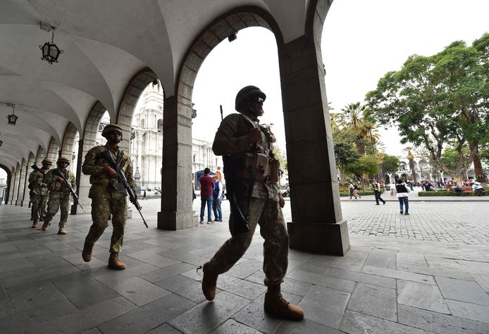
[[[49,168],[53,162],[49,159],[44,159],[42,160],[41,164],[41,171],[45,175],[49,171]],[[32,192],[30,199],[32,202],[32,228],[37,228],[39,218],[44,219],[46,216],[46,205],[49,197],[49,189],[46,181],[44,180],[44,175],[36,170],[32,171],[32,173],[29,175],[29,187]]]

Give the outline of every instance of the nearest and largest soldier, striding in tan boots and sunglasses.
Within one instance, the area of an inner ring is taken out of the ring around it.
[[[278,189],[278,161],[272,150],[275,136],[270,128],[259,124],[263,116],[264,92],[247,86],[237,93],[233,113],[221,122],[213,142],[216,155],[223,155],[224,176],[232,205],[230,232],[232,237],[221,246],[213,258],[204,264],[202,291],[208,300],[216,297],[218,275],[228,271],[243,256],[252,241],[256,224],[264,237],[265,295],[264,309],[290,320],[302,320],[304,311],[283,299],[280,284],[288,264],[289,237],[282,209],[285,201]],[[235,202],[233,202],[235,199]],[[234,203],[234,204],[233,204]],[[240,215],[248,216],[249,230],[238,232]]]

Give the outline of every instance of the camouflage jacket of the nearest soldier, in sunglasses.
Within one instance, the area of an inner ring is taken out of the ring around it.
[[[247,135],[253,128],[261,131],[261,141],[256,145],[247,140]],[[273,156],[273,142],[276,142],[275,135],[268,126],[260,125],[258,119],[251,120],[242,113],[226,116],[219,125],[212,145],[214,154],[222,155],[225,161],[226,184],[232,178],[246,188],[251,178],[252,165],[256,161],[252,197],[278,199],[278,177],[269,177],[278,173],[278,161]],[[273,163],[276,163],[276,171],[271,168]]]

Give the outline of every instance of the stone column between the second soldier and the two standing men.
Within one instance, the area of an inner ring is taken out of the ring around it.
[[[193,228],[192,220],[192,106],[165,99],[163,111],[163,173],[158,228]]]

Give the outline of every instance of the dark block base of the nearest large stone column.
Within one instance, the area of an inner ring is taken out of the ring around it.
[[[349,250],[347,221],[328,223],[287,223],[291,249],[345,256]]]

